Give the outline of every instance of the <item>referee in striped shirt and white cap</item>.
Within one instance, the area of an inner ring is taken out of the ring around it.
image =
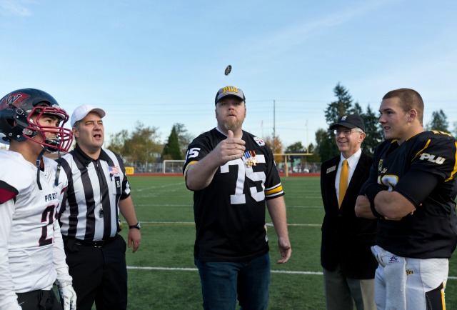
[[[105,111],[87,104],[71,115],[76,147],[61,160],[69,180],[59,210],[66,263],[77,309],[127,308],[126,241],[118,234],[119,211],[129,224],[129,247],[141,243],[130,186],[121,156],[107,149],[101,120]]]

